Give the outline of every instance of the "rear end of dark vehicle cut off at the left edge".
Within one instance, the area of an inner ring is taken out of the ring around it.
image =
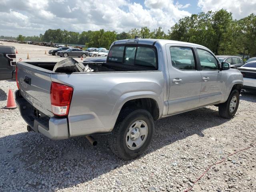
[[[0,80],[15,79],[15,68],[14,46],[0,46]]]

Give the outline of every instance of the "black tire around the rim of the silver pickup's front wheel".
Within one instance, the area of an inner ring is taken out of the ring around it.
[[[238,90],[233,90],[230,95],[228,96],[228,100],[225,103],[219,104],[219,114],[221,117],[230,119],[232,118],[235,114],[236,111],[238,109],[239,106],[239,101],[240,101],[240,93]],[[232,98],[234,98],[234,96],[236,96],[236,106],[234,107],[233,111],[230,111],[230,103]]]

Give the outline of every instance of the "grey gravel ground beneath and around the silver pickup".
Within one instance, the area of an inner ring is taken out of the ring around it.
[[[256,95],[242,93],[231,120],[210,106],[156,121],[148,150],[124,161],[106,136],[93,147],[83,137],[54,141],[27,132],[18,109],[2,109],[9,88],[16,82],[0,82],[0,191],[184,191],[210,164],[256,142]],[[192,190],[255,191],[255,150],[213,166]]]

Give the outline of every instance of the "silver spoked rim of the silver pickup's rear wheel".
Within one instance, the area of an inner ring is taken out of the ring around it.
[[[143,120],[133,122],[126,133],[126,146],[130,150],[140,148],[146,141],[148,136],[148,125]]]

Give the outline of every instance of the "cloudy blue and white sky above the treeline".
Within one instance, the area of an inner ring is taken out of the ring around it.
[[[128,32],[143,26],[168,32],[180,18],[222,8],[240,19],[256,14],[256,0],[0,0],[0,35],[33,36],[58,28]]]

